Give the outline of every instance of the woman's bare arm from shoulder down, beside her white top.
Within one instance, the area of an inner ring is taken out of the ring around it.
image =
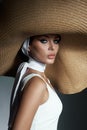
[[[45,85],[39,77],[33,77],[25,85],[12,130],[29,130],[31,128],[34,115],[43,102]]]

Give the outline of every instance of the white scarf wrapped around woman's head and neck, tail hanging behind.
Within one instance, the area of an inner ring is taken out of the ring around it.
[[[24,44],[23,44],[23,47],[22,47],[22,52],[29,57],[29,61],[28,62],[23,62],[19,68],[18,68],[18,71],[17,73],[20,73],[19,75],[19,78],[17,79],[17,83],[15,85],[15,91],[14,91],[14,94],[13,94],[13,98],[12,98],[12,104],[15,100],[15,97],[16,97],[16,94],[17,94],[17,90],[19,88],[19,85],[20,85],[20,82],[21,82],[21,79],[23,77],[23,75],[25,74],[26,70],[28,68],[31,68],[33,70],[37,70],[37,71],[40,71],[40,72],[44,72],[45,68],[46,68],[46,65],[41,63],[41,62],[38,62],[36,61],[35,59],[33,59],[32,57],[29,56],[28,54],[28,47],[29,47],[29,40],[25,40]]]

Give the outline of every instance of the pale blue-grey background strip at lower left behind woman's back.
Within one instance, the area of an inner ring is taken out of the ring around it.
[[[0,130],[7,130],[10,96],[14,78],[0,76]]]

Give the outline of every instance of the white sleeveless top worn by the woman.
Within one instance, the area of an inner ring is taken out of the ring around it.
[[[45,83],[49,92],[48,100],[41,104],[34,116],[30,130],[57,130],[59,116],[62,112],[62,103],[55,90],[39,75],[30,74],[23,79],[23,88],[27,81],[34,76],[40,77]]]

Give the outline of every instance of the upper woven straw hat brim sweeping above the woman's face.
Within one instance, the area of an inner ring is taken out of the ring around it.
[[[87,0],[7,0],[6,13],[15,32],[87,33]]]

